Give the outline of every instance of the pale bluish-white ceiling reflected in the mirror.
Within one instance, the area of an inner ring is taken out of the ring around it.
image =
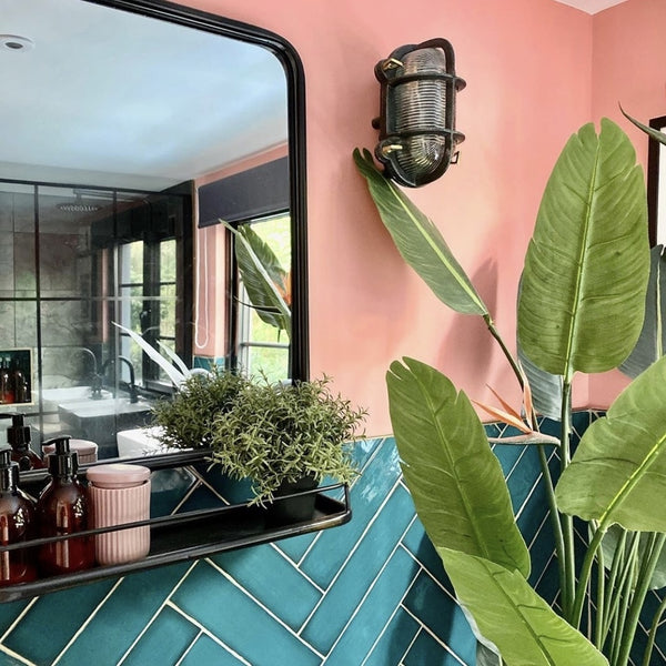
[[[82,0],[0,0],[0,178],[160,190],[287,139],[261,47]]]

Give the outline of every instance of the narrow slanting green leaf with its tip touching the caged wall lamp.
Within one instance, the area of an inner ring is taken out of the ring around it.
[[[354,161],[384,225],[403,259],[446,305],[464,314],[488,313],[472,282],[455,260],[440,230],[377,170],[369,151],[356,149]]]

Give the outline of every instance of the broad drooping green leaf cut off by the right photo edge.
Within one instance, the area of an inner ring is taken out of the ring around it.
[[[561,511],[602,529],[666,532],[666,356],[585,431],[555,495]]]

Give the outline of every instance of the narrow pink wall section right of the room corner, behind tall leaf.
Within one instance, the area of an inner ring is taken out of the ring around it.
[[[647,165],[647,138],[618,109],[647,123],[666,114],[666,2],[628,0],[594,18],[594,118],[606,115],[632,138],[638,159]],[[619,372],[589,380],[589,402],[607,406],[627,380]]]

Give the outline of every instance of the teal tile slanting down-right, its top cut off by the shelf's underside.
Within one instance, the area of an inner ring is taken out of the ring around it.
[[[294,630],[321,598],[321,592],[271,545],[222,553],[212,559]],[[285,604],[285,599],[295,603]]]

